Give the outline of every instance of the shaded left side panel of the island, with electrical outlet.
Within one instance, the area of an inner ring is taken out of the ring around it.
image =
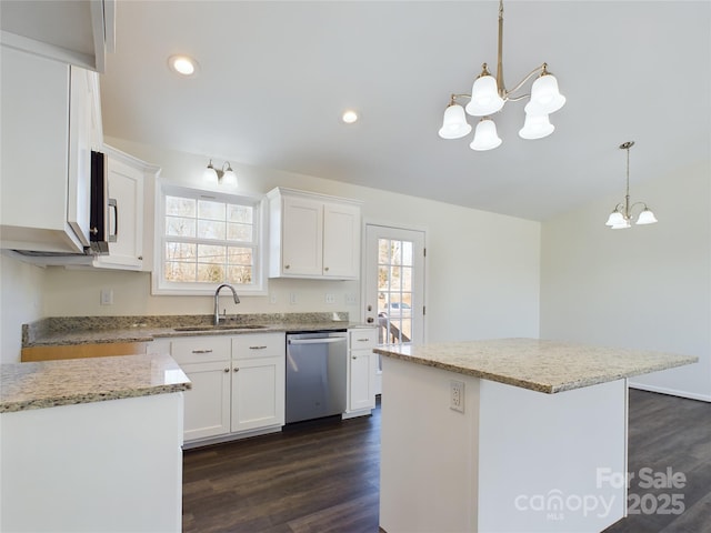
[[[477,524],[480,380],[382,358],[380,526],[472,532]],[[464,412],[450,381],[464,383]]]

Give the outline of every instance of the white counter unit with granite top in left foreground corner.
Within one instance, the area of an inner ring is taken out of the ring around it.
[[[0,378],[0,531],[181,531],[190,381],[170,356],[3,364]]]

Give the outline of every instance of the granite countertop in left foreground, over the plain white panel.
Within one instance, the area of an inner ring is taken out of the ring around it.
[[[190,380],[169,355],[0,365],[0,413],[180,392]]]

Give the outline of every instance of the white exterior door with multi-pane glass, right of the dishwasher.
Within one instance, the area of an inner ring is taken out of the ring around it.
[[[423,343],[424,232],[375,224],[365,232],[365,321],[378,325],[379,344]]]

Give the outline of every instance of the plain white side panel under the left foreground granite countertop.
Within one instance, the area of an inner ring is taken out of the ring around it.
[[[0,530],[180,532],[183,393],[0,415]]]

